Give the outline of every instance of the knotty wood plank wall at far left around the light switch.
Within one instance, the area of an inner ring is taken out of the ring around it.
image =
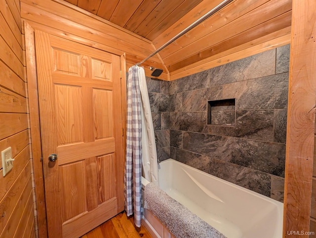
[[[12,147],[13,169],[2,176],[0,238],[35,237],[34,190],[19,0],[0,0],[0,151]]]

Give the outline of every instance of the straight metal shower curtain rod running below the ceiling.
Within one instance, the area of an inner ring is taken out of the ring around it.
[[[157,50],[155,50],[153,53],[151,53],[147,58],[143,59],[141,62],[137,63],[137,66],[140,66],[142,63],[144,63],[146,60],[148,60],[149,58],[153,57],[155,54],[157,54],[160,50],[162,50],[164,47],[168,46],[170,43],[172,43],[173,41],[177,40],[179,37],[183,36],[184,34],[186,34],[188,31],[190,31],[192,28],[196,27],[198,24],[200,24],[201,22],[203,22],[204,20],[206,20],[207,18],[209,18],[211,15],[213,15],[214,13],[216,13],[217,11],[219,11],[221,8],[223,8],[224,6],[226,6],[228,3],[230,3],[233,0],[224,0],[222,1],[220,4],[218,4],[217,6],[215,6],[212,10],[210,10],[209,12],[207,12],[205,15],[203,15],[202,17],[200,17],[199,19],[197,19],[194,23],[192,23],[190,26],[188,26],[186,29],[184,29],[183,31],[181,31],[179,34],[177,34],[175,37],[173,37],[172,39],[168,40],[166,43],[164,43],[163,45],[161,45]]]

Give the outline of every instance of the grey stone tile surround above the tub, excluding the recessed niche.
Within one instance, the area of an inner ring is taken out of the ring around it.
[[[160,160],[283,201],[288,69],[285,45],[170,82],[147,79]],[[235,124],[209,125],[208,101],[223,99],[236,99]]]

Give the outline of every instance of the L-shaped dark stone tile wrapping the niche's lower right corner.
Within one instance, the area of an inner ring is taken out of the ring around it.
[[[273,111],[236,111],[236,127],[209,125],[209,134],[273,141]]]

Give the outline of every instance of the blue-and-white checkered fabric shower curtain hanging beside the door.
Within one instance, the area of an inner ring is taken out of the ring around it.
[[[125,167],[125,209],[127,216],[134,213],[134,222],[141,226],[142,219],[142,119],[138,66],[128,69],[127,77],[127,130]]]

